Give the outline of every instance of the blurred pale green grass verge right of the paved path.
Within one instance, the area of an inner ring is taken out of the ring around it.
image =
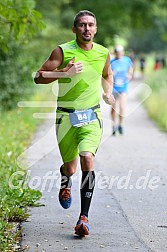
[[[151,73],[146,83],[148,83],[152,89],[151,96],[145,102],[148,114],[157,123],[160,129],[167,132],[166,69]]]

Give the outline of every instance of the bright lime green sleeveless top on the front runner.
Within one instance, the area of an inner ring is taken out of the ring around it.
[[[108,49],[93,43],[91,50],[81,49],[75,40],[59,46],[63,51],[64,68],[75,57],[75,62],[83,63],[83,71],[70,78],[58,80],[57,106],[72,109],[91,108],[100,102],[101,79]]]

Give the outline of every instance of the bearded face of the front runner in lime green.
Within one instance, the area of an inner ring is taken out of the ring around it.
[[[96,21],[92,16],[80,17],[76,27],[73,27],[73,32],[81,42],[92,41],[96,31]]]

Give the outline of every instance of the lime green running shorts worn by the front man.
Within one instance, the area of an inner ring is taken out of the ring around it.
[[[70,162],[81,152],[93,155],[99,147],[102,136],[102,118],[100,109],[94,110],[97,120],[81,127],[71,126],[69,113],[56,113],[56,136],[63,162]]]

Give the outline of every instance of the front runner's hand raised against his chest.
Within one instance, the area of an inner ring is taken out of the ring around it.
[[[67,73],[67,76],[73,76],[75,74],[79,74],[83,70],[83,64],[81,62],[74,62],[74,61],[75,57],[68,62],[67,66],[63,70],[64,72]]]

